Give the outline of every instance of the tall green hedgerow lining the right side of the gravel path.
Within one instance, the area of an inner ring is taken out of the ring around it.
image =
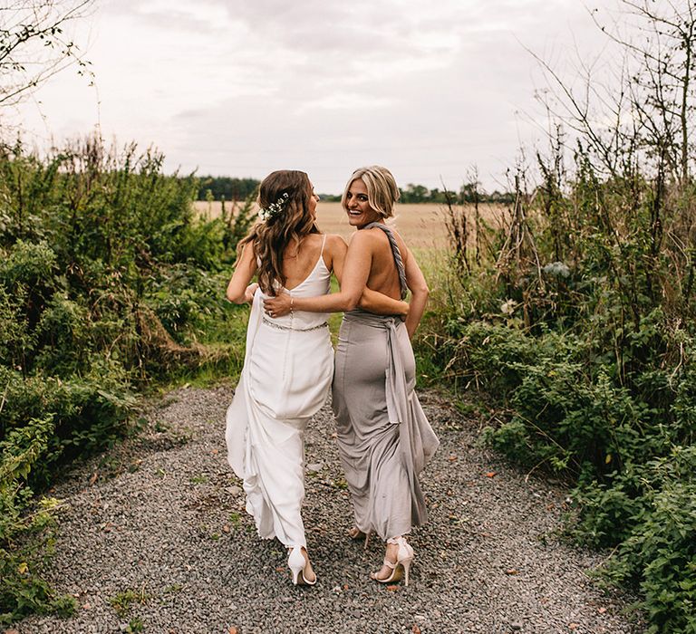
[[[650,631],[696,632],[696,192],[595,159],[539,157],[507,226],[450,234],[418,353],[498,404],[490,446],[575,483],[571,532],[613,549]]]

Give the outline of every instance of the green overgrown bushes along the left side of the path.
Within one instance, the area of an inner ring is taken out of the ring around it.
[[[161,165],[99,139],[0,149],[2,622],[72,606],[41,578],[52,504],[34,491],[118,442],[151,381],[241,367],[246,312],[224,289],[252,204],[199,219],[197,179]]]

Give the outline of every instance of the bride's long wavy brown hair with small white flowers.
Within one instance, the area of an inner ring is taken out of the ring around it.
[[[259,262],[258,285],[268,295],[275,295],[274,282],[285,286],[283,255],[287,245],[295,242],[299,248],[305,235],[319,233],[309,211],[311,197],[309,177],[295,169],[271,172],[258,187],[258,207],[268,209],[282,200],[282,209],[256,223],[249,235],[239,242],[237,250],[241,253],[242,246],[249,242],[254,246]]]

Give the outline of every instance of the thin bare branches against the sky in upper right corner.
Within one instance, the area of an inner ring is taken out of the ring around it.
[[[618,0],[613,18],[597,9],[592,17],[621,54],[601,65],[599,78],[594,64],[580,59],[580,89],[535,55],[551,83],[539,93],[547,110],[579,133],[612,178],[640,167],[686,184],[696,106],[693,3]]]

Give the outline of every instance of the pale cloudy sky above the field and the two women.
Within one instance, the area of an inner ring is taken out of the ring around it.
[[[598,54],[614,0],[96,0],[68,69],[14,111],[39,149],[99,130],[154,146],[168,172],[302,169],[343,190],[381,164],[401,187],[508,187],[546,147],[546,79]],[[534,53],[534,54],[532,54]],[[528,159],[527,159],[528,160]]]

